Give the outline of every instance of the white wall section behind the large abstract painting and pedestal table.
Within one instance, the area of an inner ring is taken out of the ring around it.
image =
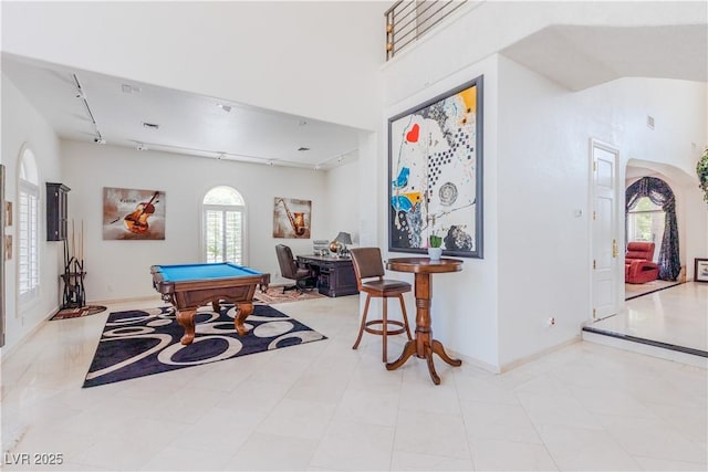
[[[426,69],[426,61],[419,65]],[[498,57],[491,56],[478,64],[431,84],[404,101],[392,104],[384,111],[382,136],[387,133],[387,119],[405,112],[426,99],[433,98],[473,77],[483,75],[483,249],[485,259],[466,259],[462,271],[451,274],[436,274],[433,276],[433,331],[446,348],[476,361],[478,365],[496,370],[498,359],[497,313],[499,311],[498,285]],[[409,81],[415,81],[412,75]],[[402,84],[406,85],[406,84]],[[382,248],[387,248],[388,241],[388,144],[384,139],[379,144],[382,158],[378,172],[378,241]],[[389,253],[389,256],[406,256],[409,254]],[[398,277],[413,282],[412,274],[389,273],[391,277]],[[415,301],[413,294],[406,297],[409,318],[415,319]],[[394,304],[392,304],[394,305]]]

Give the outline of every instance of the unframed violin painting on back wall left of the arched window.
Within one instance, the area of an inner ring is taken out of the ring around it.
[[[104,240],[164,240],[165,192],[103,188]]]

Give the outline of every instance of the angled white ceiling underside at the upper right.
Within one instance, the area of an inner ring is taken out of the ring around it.
[[[708,81],[708,25],[544,28],[501,51],[572,91],[621,77]]]

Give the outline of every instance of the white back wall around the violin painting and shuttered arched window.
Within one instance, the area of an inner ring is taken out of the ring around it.
[[[272,238],[275,197],[312,200],[313,235],[336,234],[339,230],[326,218],[330,199],[325,172],[69,140],[62,141],[61,155],[64,183],[72,189],[70,218],[76,228],[84,221],[88,301],[154,295],[150,265],[200,262],[200,204],[207,191],[216,186],[231,186],[246,200],[248,260],[244,262],[269,272],[273,283],[284,282],[278,277],[275,244],[290,245],[294,254],[312,252],[311,239]],[[104,187],[165,191],[165,240],[104,241]]]

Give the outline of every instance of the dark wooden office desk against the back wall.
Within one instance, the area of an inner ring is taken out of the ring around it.
[[[308,264],[317,276],[317,291],[326,296],[355,295],[356,274],[352,258],[326,255],[298,255],[298,262]]]

